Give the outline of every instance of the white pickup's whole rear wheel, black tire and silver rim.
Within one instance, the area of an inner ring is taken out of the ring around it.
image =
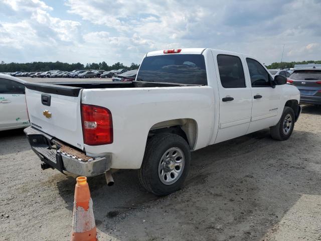
[[[190,161],[190,147],[185,139],[169,133],[156,135],[147,142],[139,181],[155,195],[171,194],[182,188]]]

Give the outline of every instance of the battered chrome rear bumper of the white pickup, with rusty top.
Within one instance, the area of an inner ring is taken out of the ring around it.
[[[40,160],[62,173],[67,171],[79,176],[91,177],[110,169],[110,157],[88,157],[81,151],[33,127],[26,128],[24,132],[32,150]]]

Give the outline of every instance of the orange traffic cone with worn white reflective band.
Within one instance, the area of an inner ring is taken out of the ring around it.
[[[86,177],[77,177],[71,241],[97,241],[92,200]]]

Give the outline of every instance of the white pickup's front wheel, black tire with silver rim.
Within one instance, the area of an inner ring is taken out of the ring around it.
[[[289,139],[294,128],[294,111],[292,108],[285,106],[279,122],[270,127],[270,135],[273,139],[285,141]]]

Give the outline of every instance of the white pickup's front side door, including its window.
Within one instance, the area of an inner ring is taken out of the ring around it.
[[[251,80],[252,114],[247,133],[274,126],[280,109],[282,86],[271,87],[271,75],[261,63],[253,58],[246,58],[247,71]]]

